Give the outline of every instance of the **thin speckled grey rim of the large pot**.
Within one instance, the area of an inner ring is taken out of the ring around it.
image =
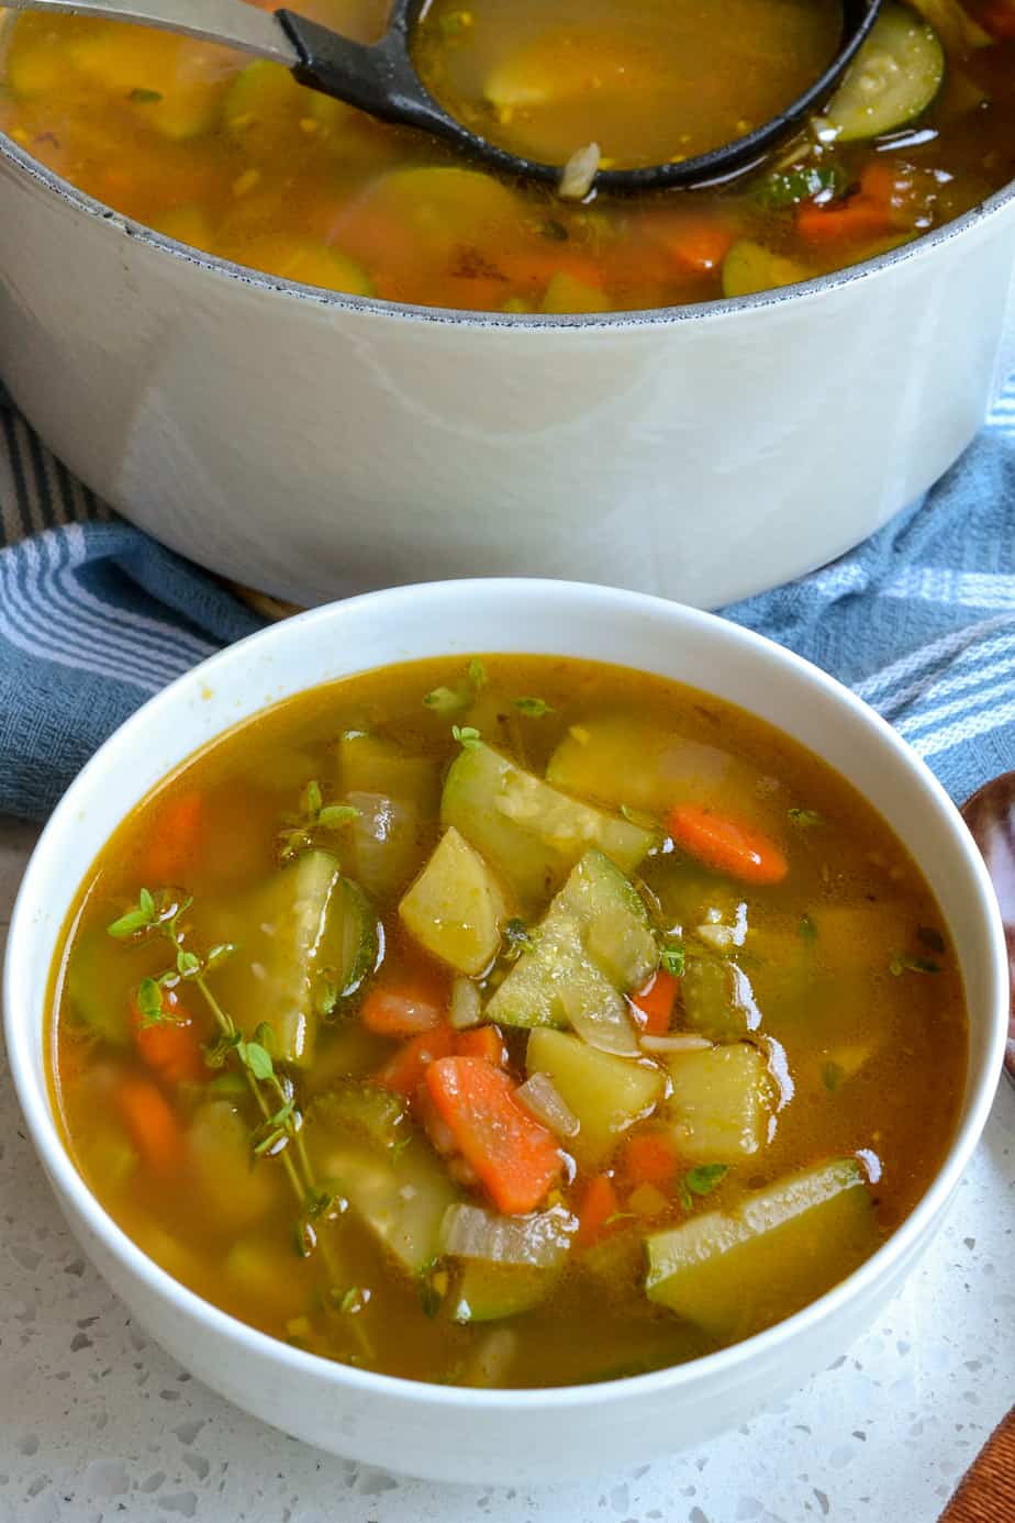
[[[17,15],[17,12],[11,12]],[[2,27],[0,27],[2,30]],[[37,181],[47,192],[64,201],[73,212],[84,213],[103,222],[111,231],[122,238],[137,241],[158,253],[166,253],[173,259],[193,265],[212,276],[224,279],[227,283],[237,283],[259,291],[275,291],[280,295],[295,299],[310,306],[338,309],[342,312],[373,314],[376,318],[403,323],[432,323],[437,326],[467,327],[467,329],[513,329],[513,330],[551,330],[566,329],[651,329],[671,327],[680,323],[697,323],[735,317],[738,312],[756,311],[759,308],[782,308],[796,302],[820,300],[822,295],[858,282],[873,279],[893,270],[896,265],[912,259],[927,259],[936,248],[963,238],[974,228],[1000,216],[1004,209],[1015,209],[1015,180],[992,192],[985,201],[963,212],[962,216],[940,227],[924,233],[921,238],[898,248],[890,248],[873,259],[846,265],[843,270],[832,270],[810,280],[799,280],[794,285],[781,286],[775,291],[758,291],[753,295],[723,297],[712,302],[688,302],[680,306],[642,308],[618,312],[574,312],[574,314],[543,314],[543,312],[481,312],[467,308],[446,306],[415,306],[408,302],[383,302],[379,297],[352,295],[344,291],[329,291],[323,286],[304,285],[297,280],[286,280],[283,276],[271,276],[251,270],[247,265],[234,263],[230,259],[208,254],[202,250],[181,244],[175,238],[157,233],[145,222],[125,216],[114,207],[96,200],[75,184],[58,175],[35,158],[26,148],[21,148],[6,133],[0,131],[0,161],[6,158],[15,172]]]

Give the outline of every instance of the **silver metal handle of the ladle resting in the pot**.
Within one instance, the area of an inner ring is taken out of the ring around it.
[[[300,62],[300,53],[271,11],[242,5],[240,0],[3,0],[11,11],[73,12],[107,21],[134,21],[164,32],[224,43],[257,58],[271,58],[286,69]]]

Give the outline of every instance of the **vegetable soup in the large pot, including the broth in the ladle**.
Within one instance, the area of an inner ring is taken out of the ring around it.
[[[278,64],[72,15],[8,20],[0,128],[126,216],[315,286],[493,312],[706,302],[895,248],[1012,178],[1015,0],[913,6],[887,0],[823,117],[709,190],[563,200]],[[387,12],[304,9],[364,41]],[[418,55],[485,136],[562,164],[597,143],[630,166],[785,105],[834,52],[838,15],[835,0],[434,0]]]

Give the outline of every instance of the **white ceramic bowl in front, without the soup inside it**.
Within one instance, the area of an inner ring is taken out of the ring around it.
[[[475,650],[615,661],[705,687],[819,751],[884,815],[937,896],[963,972],[969,1069],[959,1132],[913,1214],[787,1322],[676,1369],[597,1386],[466,1390],[317,1359],[183,1290],[105,1215],[67,1156],[46,1083],[47,984],[78,883],[119,821],[224,730],[304,687]],[[922,762],[831,678],[733,624],[657,599],[551,582],[455,582],[352,599],[204,663],[135,714],[70,787],[18,896],[5,1036],[26,1121],[84,1247],[154,1336],[239,1406],[298,1438],[440,1480],[523,1485],[622,1470],[698,1444],[823,1369],[877,1316],[942,1223],[997,1087],[1004,937],[980,854]]]

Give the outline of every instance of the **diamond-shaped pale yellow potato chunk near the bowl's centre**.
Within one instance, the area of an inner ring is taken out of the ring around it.
[[[475,978],[498,955],[508,912],[487,864],[449,825],[399,905],[399,917],[422,947]]]

